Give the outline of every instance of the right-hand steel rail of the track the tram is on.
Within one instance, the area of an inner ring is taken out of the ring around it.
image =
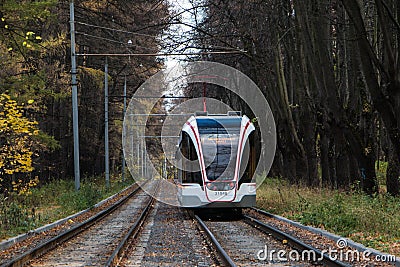
[[[281,230],[279,230],[271,225],[263,223],[263,222],[257,220],[256,218],[250,217],[248,215],[243,215],[243,220],[247,224],[260,230],[261,232],[266,233],[266,234],[271,234],[273,237],[275,237],[278,240],[281,240],[281,241],[286,240],[291,247],[293,247],[299,251],[304,251],[304,250],[313,251],[316,255],[316,259],[321,259],[321,262],[319,262],[319,263],[324,263],[325,266],[335,266],[335,267],[351,267],[352,266],[350,264],[344,263],[337,259],[330,258],[328,254],[322,253],[322,251],[320,251],[319,249],[314,248],[314,247],[304,243],[303,241],[301,241],[285,232],[282,232]]]

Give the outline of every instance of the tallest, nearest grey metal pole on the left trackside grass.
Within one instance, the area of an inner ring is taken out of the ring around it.
[[[76,51],[75,51],[75,14],[74,1],[70,2],[70,31],[71,31],[71,85],[72,85],[72,122],[74,135],[74,174],[75,174],[75,190],[79,190],[80,185],[80,169],[79,169],[79,127],[78,127],[78,86],[77,86],[77,69],[76,69]]]

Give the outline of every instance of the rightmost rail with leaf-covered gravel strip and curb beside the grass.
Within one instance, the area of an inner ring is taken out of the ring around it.
[[[244,220],[261,231],[276,235],[278,239],[292,243],[298,250],[314,251],[320,263],[330,264],[330,258],[338,259],[336,266],[400,266],[394,255],[367,248],[335,234],[304,226],[286,218],[257,208],[246,210]],[[321,256],[320,252],[324,252]],[[332,264],[330,264],[332,265]]]

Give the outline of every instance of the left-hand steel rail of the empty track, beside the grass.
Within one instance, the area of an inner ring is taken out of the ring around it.
[[[104,217],[106,217],[107,215],[109,215],[111,212],[113,212],[114,210],[116,210],[118,207],[120,207],[122,204],[124,204],[129,198],[131,198],[132,196],[134,196],[139,190],[141,190],[141,187],[135,183],[135,185],[137,185],[137,188],[135,188],[129,195],[126,195],[125,197],[121,198],[120,200],[118,200],[117,202],[115,202],[113,205],[111,205],[110,207],[106,208],[105,210],[100,211],[99,213],[97,213],[96,215],[90,217],[89,219],[87,219],[86,221],[79,223],[78,225],[72,227],[71,229],[68,229],[67,231],[51,238],[50,240],[40,244],[39,246],[23,253],[22,255],[12,259],[11,261],[5,262],[1,265],[1,267],[9,267],[9,266],[13,266],[13,267],[20,267],[20,266],[24,266],[26,263],[28,263],[29,261],[53,250],[54,248],[56,248],[57,246],[59,246],[60,244],[68,241],[69,239],[75,237],[76,235],[78,235],[79,233],[85,231],[86,229],[88,229],[89,227],[91,227],[92,225],[94,225],[95,223],[97,223],[98,221],[100,221],[101,219],[103,219]]]

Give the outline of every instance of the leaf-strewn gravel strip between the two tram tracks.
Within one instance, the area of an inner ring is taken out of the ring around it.
[[[121,266],[216,266],[196,224],[177,207],[157,202]]]

